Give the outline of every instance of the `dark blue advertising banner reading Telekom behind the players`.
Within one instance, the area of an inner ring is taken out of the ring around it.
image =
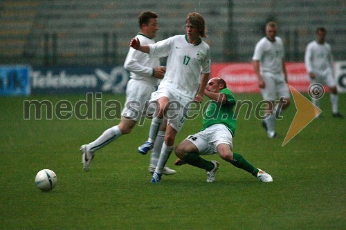
[[[125,93],[129,72],[122,66],[33,68],[32,94]]]

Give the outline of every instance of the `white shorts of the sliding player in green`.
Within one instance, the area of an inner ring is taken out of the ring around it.
[[[205,130],[186,137],[197,146],[199,155],[212,155],[217,153],[219,144],[228,144],[230,149],[233,148],[233,137],[224,124],[213,124]]]

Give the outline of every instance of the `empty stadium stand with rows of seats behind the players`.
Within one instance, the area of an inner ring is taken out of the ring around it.
[[[33,65],[122,64],[143,10],[160,15],[156,41],[184,33],[188,12],[206,18],[212,61],[250,61],[268,20],[279,24],[286,56],[302,61],[317,26],[329,31],[336,59],[345,58],[345,1],[1,1],[0,62]]]

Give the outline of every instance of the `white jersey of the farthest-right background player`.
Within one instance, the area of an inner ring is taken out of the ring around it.
[[[327,76],[333,72],[333,56],[327,42],[318,44],[317,41],[311,41],[305,50],[304,61],[308,73]]]

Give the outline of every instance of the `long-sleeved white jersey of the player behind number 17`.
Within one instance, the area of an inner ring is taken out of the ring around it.
[[[140,44],[143,46],[155,43],[154,39],[150,39],[141,33],[138,33],[136,38],[139,39]],[[158,58],[149,57],[145,52],[129,48],[124,68],[130,71],[131,79],[146,82],[151,86],[157,86],[158,79],[154,77],[154,68],[158,66],[160,66]]]

